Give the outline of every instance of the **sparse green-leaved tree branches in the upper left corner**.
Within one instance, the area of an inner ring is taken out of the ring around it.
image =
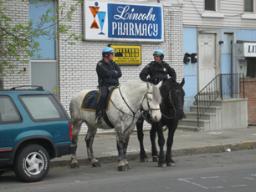
[[[36,0],[20,0],[23,3],[37,4]],[[42,0],[41,0],[42,1]],[[30,57],[40,58],[38,51],[40,50],[40,44],[37,39],[44,36],[48,39],[59,38],[61,34],[68,35],[67,41],[70,44],[75,44],[75,41],[83,38],[82,35],[75,33],[69,33],[72,28],[71,24],[61,23],[62,21],[72,22],[74,12],[79,8],[83,0],[77,1],[73,6],[67,8],[66,3],[56,8],[57,16],[50,16],[49,13],[53,13],[54,10],[49,8],[46,13],[40,17],[40,22],[36,23],[34,27],[33,20],[30,20],[27,25],[13,24],[12,18],[9,18],[6,14],[8,8],[5,8],[5,3],[8,0],[0,0],[0,73],[3,71],[14,73],[14,69],[18,67],[20,63],[29,63]],[[49,0],[44,0],[45,3]],[[47,26],[47,27],[44,27]],[[57,33],[53,31],[52,27],[57,26]],[[18,73],[21,73],[19,71]],[[0,76],[1,76],[0,75]]]

